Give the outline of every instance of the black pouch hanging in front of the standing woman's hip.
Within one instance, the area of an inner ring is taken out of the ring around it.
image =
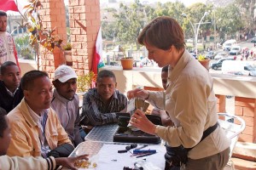
[[[188,149],[183,145],[178,147],[171,147],[166,145],[166,168],[165,170],[171,170],[173,167],[180,167],[186,164],[188,161]]]

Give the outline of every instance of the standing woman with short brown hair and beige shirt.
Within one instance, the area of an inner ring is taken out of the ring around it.
[[[212,77],[185,49],[181,26],[170,17],[158,17],[143,28],[137,41],[148,49],[148,59],[160,67],[169,65],[168,88],[166,99],[162,92],[143,89],[129,91],[128,98],[147,99],[166,110],[175,126],[156,126],[140,110],[131,116],[131,124],[166,140],[166,170],[181,164],[186,170],[223,169],[230,139],[217,123]],[[177,158],[182,159],[177,162]]]

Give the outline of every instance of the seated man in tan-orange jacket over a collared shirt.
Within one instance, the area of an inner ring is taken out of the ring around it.
[[[52,86],[44,71],[28,71],[21,78],[24,99],[8,114],[12,139],[8,156],[68,156],[73,145],[54,110],[49,108]],[[65,146],[65,153],[57,150]]]

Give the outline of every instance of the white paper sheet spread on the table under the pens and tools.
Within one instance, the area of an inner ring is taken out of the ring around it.
[[[148,150],[157,150],[157,153],[151,156],[137,158],[131,156],[128,151],[126,153],[118,153],[118,150],[125,150],[125,144],[103,144],[102,149],[98,153],[97,170],[119,170],[124,167],[134,167],[134,163],[146,159],[146,163],[157,167],[155,169],[165,169],[166,148],[162,145],[148,145]],[[137,147],[140,147],[139,144]]]

